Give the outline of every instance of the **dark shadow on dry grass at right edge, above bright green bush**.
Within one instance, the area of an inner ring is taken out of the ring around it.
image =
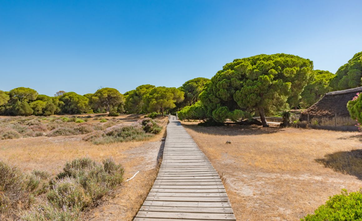
[[[316,159],[315,161],[337,172],[362,179],[362,149],[327,154],[323,159]]]

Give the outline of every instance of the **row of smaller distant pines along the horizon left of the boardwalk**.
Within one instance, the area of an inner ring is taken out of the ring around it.
[[[0,91],[0,114],[7,116],[50,116],[80,113],[151,113],[175,108],[184,100],[184,92],[174,87],[141,85],[121,94],[115,88],[101,88],[94,94],[79,95],[58,91],[52,97],[39,95],[31,88]]]

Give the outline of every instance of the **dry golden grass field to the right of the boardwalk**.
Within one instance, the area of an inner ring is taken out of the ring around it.
[[[298,220],[362,187],[355,132],[183,124],[222,175],[237,220]]]

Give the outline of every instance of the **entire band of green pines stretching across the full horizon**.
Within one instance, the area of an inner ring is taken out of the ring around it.
[[[94,94],[58,91],[52,97],[31,88],[0,91],[0,114],[175,113],[184,119],[235,122],[291,108],[307,108],[325,93],[361,86],[362,52],[336,74],[313,70],[313,62],[295,55],[257,55],[235,59],[211,79],[194,78],[181,87],[140,85],[121,94],[101,88]]]

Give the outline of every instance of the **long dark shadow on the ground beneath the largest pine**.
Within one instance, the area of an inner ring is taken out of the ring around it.
[[[183,126],[198,133],[225,136],[273,134],[283,131],[283,128],[279,126],[262,127],[257,125],[224,125],[204,127],[185,124]]]

